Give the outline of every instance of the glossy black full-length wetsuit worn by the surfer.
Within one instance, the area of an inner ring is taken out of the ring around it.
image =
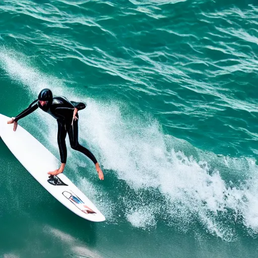
[[[94,162],[94,164],[97,163],[94,155],[88,149],[81,146],[78,142],[78,112],[76,114],[78,119],[76,121],[74,120],[73,125],[71,125],[73,121],[74,109],[77,108],[78,111],[84,109],[86,107],[84,103],[69,101],[64,97],[54,97],[51,101],[47,101],[46,105],[41,106],[39,101],[35,100],[29,105],[28,108],[17,115],[14,120],[18,121],[19,119],[35,111],[38,107],[52,115],[57,120],[57,143],[59,146],[61,163],[67,162],[67,133],[69,135],[71,148],[85,154]]]

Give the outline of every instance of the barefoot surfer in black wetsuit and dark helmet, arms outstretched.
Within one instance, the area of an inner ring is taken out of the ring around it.
[[[103,172],[97,162],[95,156],[78,142],[78,111],[86,107],[84,103],[69,101],[64,97],[53,97],[51,90],[43,89],[38,99],[34,100],[28,108],[23,110],[16,117],[12,117],[7,123],[14,123],[14,131],[16,131],[18,120],[32,113],[37,108],[42,109],[57,120],[57,143],[60,152],[61,165],[58,169],[48,172],[49,175],[58,175],[63,172],[67,162],[66,136],[68,133],[71,148],[82,152],[89,157],[95,164],[100,180],[104,179]]]

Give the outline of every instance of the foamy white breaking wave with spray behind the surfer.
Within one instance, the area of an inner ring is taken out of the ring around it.
[[[166,135],[159,121],[149,114],[138,115],[126,103],[91,99],[84,92],[73,91],[60,79],[32,68],[21,55],[2,52],[0,63],[32,100],[43,87],[49,87],[54,95],[87,103],[80,115],[80,141],[97,156],[106,180],[117,191],[112,196],[91,175],[88,179],[82,176],[78,167],[89,171],[94,167],[71,150],[69,173],[108,214],[110,223],[124,219],[142,229],[165,223],[182,232],[201,228],[225,241],[242,234],[239,225],[250,236],[258,233],[258,176],[253,159],[201,151]],[[43,132],[37,126],[36,134],[44,136],[43,141],[58,157],[53,119],[42,112],[34,117],[47,126]],[[33,126],[29,119],[26,121]],[[95,174],[94,178],[97,180]]]

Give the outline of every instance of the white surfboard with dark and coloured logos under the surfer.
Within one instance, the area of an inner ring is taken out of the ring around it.
[[[16,132],[11,119],[0,114],[0,137],[30,174],[61,204],[78,216],[95,222],[105,217],[95,205],[64,174],[49,178],[48,171],[57,168],[58,160],[37,139],[18,125]]]

